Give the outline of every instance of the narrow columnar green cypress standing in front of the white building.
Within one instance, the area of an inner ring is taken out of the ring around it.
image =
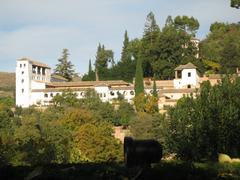
[[[143,70],[142,70],[142,60],[138,58],[136,65],[136,74],[135,74],[135,84],[134,84],[135,95],[139,95],[144,92],[143,85]]]

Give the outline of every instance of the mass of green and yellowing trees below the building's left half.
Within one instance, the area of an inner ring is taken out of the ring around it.
[[[113,137],[115,111],[93,91],[79,100],[65,91],[44,111],[0,104],[0,162],[11,165],[106,162],[121,160]],[[128,120],[128,110],[125,112]],[[127,122],[126,122],[127,123]],[[79,138],[80,137],[80,138]]]

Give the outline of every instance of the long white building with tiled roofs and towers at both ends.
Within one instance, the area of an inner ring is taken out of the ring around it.
[[[174,105],[184,95],[196,92],[196,88],[203,81],[198,75],[196,66],[191,63],[177,67],[175,74],[174,80],[156,81],[160,110]],[[29,58],[19,59],[16,67],[16,105],[47,106],[52,103],[52,98],[56,94],[61,94],[67,89],[77,93],[78,98],[84,98],[87,89],[94,89],[103,102],[110,103],[117,99],[119,94],[122,94],[127,102],[132,103],[135,95],[134,85],[122,80],[64,82],[64,79],[60,79],[51,82],[51,79],[56,78],[51,77],[51,68],[48,65]],[[204,80],[208,78],[204,77]],[[144,87],[147,94],[152,93],[153,81],[145,80]]]

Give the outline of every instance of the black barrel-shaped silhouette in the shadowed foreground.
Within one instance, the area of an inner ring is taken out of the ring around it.
[[[159,142],[149,140],[133,140],[124,138],[124,162],[127,167],[149,166],[159,163],[162,158],[162,146]]]

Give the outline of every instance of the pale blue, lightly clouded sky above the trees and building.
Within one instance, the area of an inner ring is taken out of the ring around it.
[[[104,44],[121,56],[124,31],[141,38],[152,11],[160,28],[168,15],[197,18],[197,38],[204,39],[213,22],[239,22],[240,10],[230,0],[0,0],[0,71],[14,72],[22,57],[53,69],[69,49],[76,72],[88,71],[97,46]]]

